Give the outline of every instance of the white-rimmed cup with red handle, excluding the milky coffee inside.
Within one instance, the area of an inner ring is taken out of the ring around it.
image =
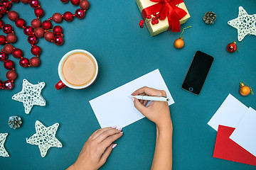
[[[87,84],[85,85],[82,85],[82,86],[74,86],[70,83],[68,83],[68,81],[65,80],[64,76],[63,76],[63,64],[65,62],[65,60],[70,56],[70,55],[73,55],[74,53],[78,53],[78,52],[81,52],[81,53],[85,53],[86,55],[89,55],[92,60],[95,62],[95,67],[96,67],[96,71],[95,71],[95,76],[93,77],[93,79],[88,82]],[[55,85],[55,88],[57,90],[60,90],[60,89],[63,89],[65,86],[68,86],[72,89],[84,89],[86,88],[87,86],[90,86],[91,84],[93,84],[93,82],[95,81],[95,79],[97,78],[97,74],[98,74],[98,71],[99,71],[99,67],[98,67],[98,64],[97,64],[97,60],[95,59],[95,57],[90,53],[90,52],[87,52],[85,50],[72,50],[68,53],[66,53],[60,60],[59,64],[58,64],[58,75],[60,77],[60,81]]]

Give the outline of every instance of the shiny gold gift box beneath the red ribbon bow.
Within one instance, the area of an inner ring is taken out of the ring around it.
[[[152,6],[154,4],[157,4],[155,2],[152,2],[150,0],[136,0],[137,5],[139,7],[139,11],[142,13],[142,10],[144,8],[147,8],[149,6]],[[178,8],[182,8],[183,10],[186,11],[186,16],[184,16],[183,18],[181,18],[180,23],[186,23],[186,21],[188,20],[188,18],[190,18],[190,15],[188,13],[188,9],[186,8],[186,5],[184,2],[182,2],[181,4],[177,4],[176,6],[178,6]],[[152,25],[151,22],[149,21],[148,18],[145,19],[145,23],[146,23],[146,27],[149,30],[150,35],[153,37],[154,35],[158,35],[159,33],[162,33],[166,30],[168,30],[169,28],[169,23],[168,23],[168,17],[166,17],[164,20],[159,21],[159,23]]]

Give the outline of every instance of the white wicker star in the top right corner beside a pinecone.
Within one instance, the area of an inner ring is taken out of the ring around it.
[[[256,14],[248,15],[242,6],[239,7],[238,18],[228,21],[230,26],[238,29],[238,40],[241,41],[245,35],[256,35]]]

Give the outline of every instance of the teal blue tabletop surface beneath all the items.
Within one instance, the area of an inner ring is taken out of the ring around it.
[[[247,35],[240,52],[228,53],[228,43],[237,38],[237,30],[228,21],[238,17],[238,7],[243,6],[248,14],[256,13],[255,0],[234,1],[185,1],[191,18],[181,26],[185,28],[181,50],[174,48],[174,40],[180,33],[166,31],[151,37],[146,29],[138,26],[142,16],[134,0],[100,1],[91,0],[90,9],[84,19],[74,18],[70,23],[63,21],[65,43],[57,46],[41,38],[41,66],[23,68],[16,63],[18,79],[11,91],[0,91],[0,132],[8,132],[5,147],[10,157],[0,157],[0,169],[66,169],[73,164],[88,137],[100,128],[90,107],[92,98],[105,94],[133,79],[159,69],[174,98],[170,106],[174,124],[173,169],[256,169],[255,166],[213,158],[217,132],[207,125],[220,104],[232,94],[246,106],[256,108],[256,96],[241,96],[239,83],[244,81],[256,92],[255,76],[255,35]],[[75,12],[72,4],[60,1],[41,0],[45,10],[43,19],[55,12]],[[35,18],[28,4],[14,4],[11,10],[19,13],[27,23]],[[218,18],[211,26],[202,18],[206,11],[214,11]],[[4,16],[3,21],[14,26]],[[53,23],[56,26],[56,23]],[[31,45],[21,28],[14,27],[24,57],[31,58]],[[2,35],[5,35],[1,32]],[[238,42],[238,47],[241,42]],[[57,91],[54,85],[59,81],[58,62],[66,52],[83,49],[92,53],[99,64],[99,75],[95,84],[87,89],[65,88]],[[193,54],[201,50],[215,58],[201,94],[195,96],[183,91],[181,84],[186,75]],[[0,67],[0,79],[5,80],[6,69]],[[22,80],[32,84],[46,83],[42,91],[46,106],[33,106],[26,115],[23,103],[14,101],[11,96],[21,91]],[[115,101],[113,101],[115,102]],[[103,104],[103,103],[102,103]],[[18,130],[9,128],[11,115],[20,115],[23,125]],[[50,126],[60,123],[56,137],[63,147],[52,147],[42,158],[38,146],[28,145],[26,137],[31,137],[36,120]],[[124,135],[117,141],[117,147],[110,154],[102,169],[150,169],[154,154],[156,128],[146,118],[124,128]]]

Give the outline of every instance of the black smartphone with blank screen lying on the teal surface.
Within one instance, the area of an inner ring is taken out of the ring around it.
[[[200,94],[210,67],[213,64],[213,57],[197,51],[188,69],[181,88],[193,94]]]

